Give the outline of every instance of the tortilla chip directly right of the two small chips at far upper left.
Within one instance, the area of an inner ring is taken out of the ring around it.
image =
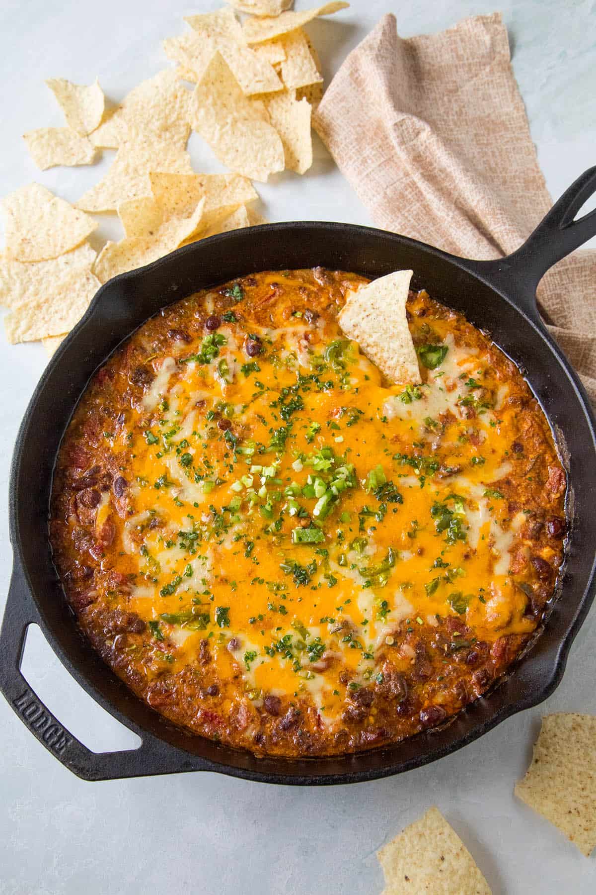
[[[143,81],[89,139],[94,146],[118,149],[138,137],[169,141],[184,149],[190,134],[190,92],[176,72],[165,69]]]

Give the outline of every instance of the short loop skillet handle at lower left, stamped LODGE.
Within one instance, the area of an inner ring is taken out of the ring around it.
[[[15,558],[0,629],[0,691],[41,745],[46,746],[65,768],[82,780],[116,780],[208,769],[197,756],[165,744],[141,729],[135,729],[143,740],[138,749],[96,753],[84,746],[46,708],[21,673],[25,636],[33,623],[40,624],[38,608]]]

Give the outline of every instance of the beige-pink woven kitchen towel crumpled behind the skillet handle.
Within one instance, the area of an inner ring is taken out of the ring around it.
[[[378,226],[457,255],[515,251],[552,205],[499,13],[407,40],[383,16],[315,129]],[[596,402],[596,251],[560,261],[538,299]]]

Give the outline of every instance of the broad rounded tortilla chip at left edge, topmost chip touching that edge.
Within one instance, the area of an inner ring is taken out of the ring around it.
[[[43,261],[73,249],[97,222],[46,187],[29,183],[2,200],[5,253],[18,261]]]

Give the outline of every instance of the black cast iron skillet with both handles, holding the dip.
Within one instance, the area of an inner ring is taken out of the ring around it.
[[[573,218],[596,192],[586,171],[527,242],[502,260],[456,258],[392,233],[348,224],[248,227],[174,251],[116,277],[97,293],[39,381],[13,456],[10,530],[13,577],[0,634],[0,688],[15,712],[55,757],[85,780],[176,771],[220,771],[269,783],[329,784],[407,771],[466,746],[515,712],[541,703],[562,677],[569,647],[590,608],[596,567],[595,421],[583,387],[544,328],[535,291],[542,275],[596,234],[596,211]],[[555,433],[569,475],[573,525],[561,595],[540,636],[508,679],[471,703],[443,729],[355,755],[288,760],[190,737],[165,722],[115,677],[80,634],[52,564],[47,507],[55,456],[81,392],[98,364],[164,305],[198,289],[259,270],[344,269],[380,277],[415,271],[415,286],[466,314],[525,371]],[[567,301],[573,302],[569,295]],[[21,675],[27,626],[37,623],[56,654],[98,703],[134,730],[139,749],[96,754],[65,730]]]

